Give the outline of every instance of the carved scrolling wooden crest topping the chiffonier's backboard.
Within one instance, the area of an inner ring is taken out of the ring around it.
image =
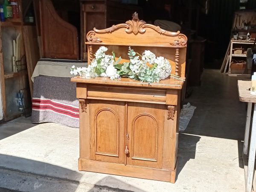
[[[151,28],[154,29],[156,32],[166,35],[166,36],[177,36],[177,39],[175,39],[174,42],[171,42],[170,44],[172,46],[186,46],[187,44],[187,38],[186,35],[180,34],[180,32],[169,32],[166,31],[164,29],[161,29],[159,26],[154,26],[151,24],[146,24],[146,22],[144,20],[140,20],[138,17],[137,12],[135,12],[132,15],[132,20],[128,20],[125,23],[121,23],[118,25],[113,25],[107,29],[96,29],[94,28],[93,31],[90,31],[87,33],[86,38],[88,42],[93,42],[93,43],[101,43],[102,41],[100,40],[100,38],[94,37],[94,35],[96,35],[96,33],[112,33],[117,29],[120,28],[126,28],[125,32],[126,33],[134,33],[135,35],[137,35],[138,33],[143,34],[146,32],[147,28]]]

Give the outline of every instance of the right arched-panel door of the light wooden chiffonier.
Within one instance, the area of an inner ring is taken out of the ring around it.
[[[165,105],[128,103],[127,164],[162,168]]]

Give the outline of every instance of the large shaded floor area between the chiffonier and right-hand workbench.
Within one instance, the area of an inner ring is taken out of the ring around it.
[[[201,82],[184,101],[197,107],[184,133],[244,140],[246,103],[239,101],[237,77],[204,70]]]

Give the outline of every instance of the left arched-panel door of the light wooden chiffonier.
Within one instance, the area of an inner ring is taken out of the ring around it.
[[[90,159],[124,163],[125,102],[91,100]]]

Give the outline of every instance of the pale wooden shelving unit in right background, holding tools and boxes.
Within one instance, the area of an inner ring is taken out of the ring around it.
[[[232,59],[234,59],[234,57],[236,58],[245,58],[246,54],[234,54],[233,53],[233,48],[234,47],[239,47],[239,45],[251,45],[253,44],[254,41],[246,41],[246,40],[230,40],[230,57],[229,57],[229,64],[228,64],[228,74],[234,74],[231,71],[231,64],[232,64]],[[242,73],[241,73],[242,74]],[[238,74],[239,75],[239,74]]]

